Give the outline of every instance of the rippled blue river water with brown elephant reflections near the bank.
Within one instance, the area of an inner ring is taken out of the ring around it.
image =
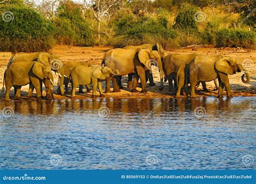
[[[255,97],[0,102],[0,167],[253,169],[255,104]]]

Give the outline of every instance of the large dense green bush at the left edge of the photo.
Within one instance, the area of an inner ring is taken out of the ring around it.
[[[0,6],[0,51],[48,51],[53,26],[38,12],[23,5]]]

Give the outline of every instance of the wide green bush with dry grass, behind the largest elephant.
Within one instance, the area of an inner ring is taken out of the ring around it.
[[[172,39],[176,38],[176,32],[167,27],[168,21],[164,17],[153,19],[125,15],[113,24],[116,33],[116,38],[112,40],[114,46],[159,43],[167,48],[173,47]]]

